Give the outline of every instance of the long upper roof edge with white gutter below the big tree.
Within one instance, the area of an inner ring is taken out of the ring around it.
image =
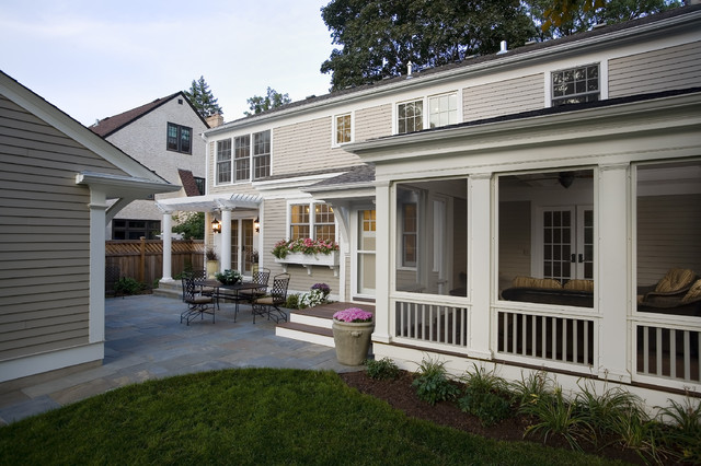
[[[221,126],[209,129],[206,131],[206,135],[215,135],[231,128],[244,127],[246,125],[257,124],[261,120],[277,118],[278,116],[284,117],[291,113],[319,108],[325,105],[333,105],[338,102],[350,102],[354,98],[363,98],[367,95],[377,95],[379,92],[391,92],[395,89],[422,85],[429,80],[451,79],[452,77],[461,75],[463,73],[489,72],[494,67],[501,66],[518,66],[518,63],[524,60],[548,57],[560,50],[563,53],[572,53],[573,50],[577,50],[582,47],[588,47],[597,43],[620,43],[625,39],[635,40],[636,38],[632,36],[635,34],[634,31],[636,28],[641,31],[640,34],[665,34],[665,32],[667,32],[671,26],[683,26],[689,23],[698,23],[699,13],[701,13],[701,4],[679,7],[662,13],[651,14],[609,26],[596,27],[591,31],[556,39],[532,44],[529,43],[524,46],[519,45],[517,48],[508,49],[505,54],[473,56],[450,65],[427,68],[420,71],[414,70],[411,77],[404,74],[386,78],[381,81],[333,91],[321,96],[312,95],[302,101],[291,102],[256,115],[226,123]]]

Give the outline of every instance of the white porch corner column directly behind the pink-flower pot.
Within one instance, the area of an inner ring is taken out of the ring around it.
[[[388,182],[375,185],[377,238],[376,238],[376,266],[375,266],[375,331],[372,341],[390,342],[390,287],[392,254],[390,253],[391,237],[394,236],[394,228],[390,223],[392,212],[390,184]]]

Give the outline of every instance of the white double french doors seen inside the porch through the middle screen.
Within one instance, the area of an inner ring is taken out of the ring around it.
[[[567,206],[542,209],[544,278],[564,283],[594,279],[594,209]]]

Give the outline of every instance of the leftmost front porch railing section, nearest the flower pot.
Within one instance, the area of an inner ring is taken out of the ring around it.
[[[468,308],[398,301],[398,337],[422,342],[468,347]]]

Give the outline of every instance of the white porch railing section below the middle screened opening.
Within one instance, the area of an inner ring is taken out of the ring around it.
[[[594,364],[593,318],[501,310],[496,321],[497,352],[503,357]]]

